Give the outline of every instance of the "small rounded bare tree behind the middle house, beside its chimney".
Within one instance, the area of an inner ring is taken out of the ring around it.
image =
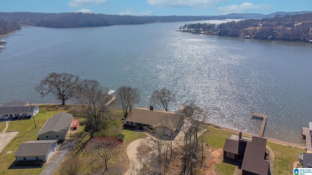
[[[174,102],[174,94],[172,94],[171,91],[166,88],[155,90],[151,97],[151,103],[162,104],[166,111],[168,111],[168,106]]]

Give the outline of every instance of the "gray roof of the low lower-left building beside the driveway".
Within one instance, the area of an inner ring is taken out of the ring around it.
[[[58,140],[30,140],[20,144],[14,157],[47,156],[53,143]]]

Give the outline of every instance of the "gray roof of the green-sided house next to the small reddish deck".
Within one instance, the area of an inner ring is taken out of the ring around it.
[[[62,112],[53,115],[44,123],[37,136],[50,131],[66,134],[73,120],[73,114]]]

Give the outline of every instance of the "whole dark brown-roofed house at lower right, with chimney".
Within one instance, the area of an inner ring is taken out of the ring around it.
[[[262,137],[226,139],[223,146],[224,159],[234,159],[241,162],[242,175],[269,175],[270,161],[267,158],[267,140]],[[237,162],[237,163],[238,163]]]

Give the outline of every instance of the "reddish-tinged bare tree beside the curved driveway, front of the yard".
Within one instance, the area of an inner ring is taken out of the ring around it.
[[[95,137],[89,141],[87,150],[96,151],[98,159],[104,162],[107,171],[107,163],[117,153],[119,143],[118,138]]]

